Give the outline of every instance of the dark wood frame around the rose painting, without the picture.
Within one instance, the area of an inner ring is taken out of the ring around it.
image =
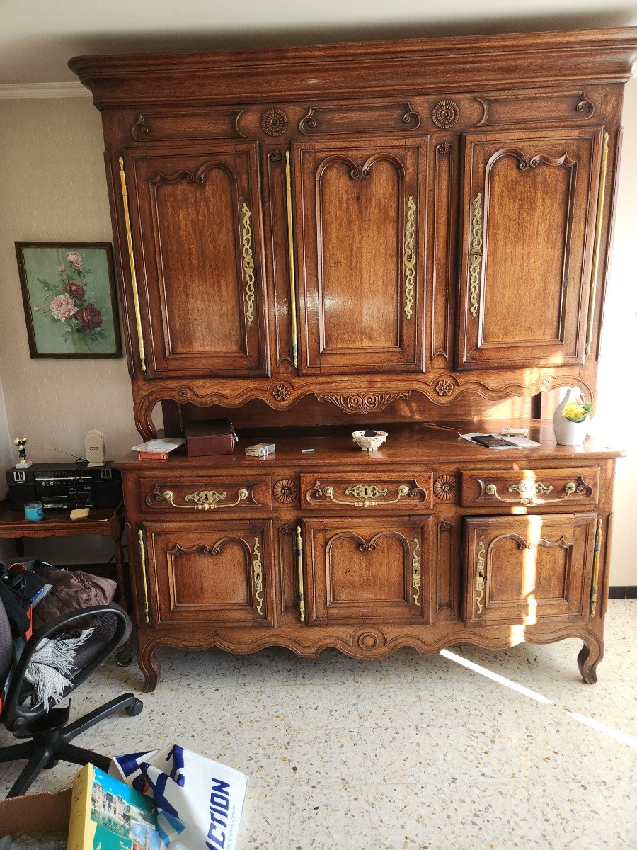
[[[116,360],[122,356],[120,314],[117,303],[115,263],[113,262],[113,246],[110,242],[15,242],[15,253],[18,261],[18,274],[20,275],[20,288],[22,290],[22,304],[25,309],[26,333],[29,339],[29,351],[31,360],[48,358],[54,360]],[[109,280],[108,301],[112,316],[113,350],[112,351],[87,351],[85,352],[63,352],[51,353],[37,350],[37,334],[33,323],[33,305],[31,303],[31,292],[29,290],[29,276],[25,263],[25,248],[54,248],[65,252],[82,252],[87,249],[101,249],[104,251],[106,269]]]

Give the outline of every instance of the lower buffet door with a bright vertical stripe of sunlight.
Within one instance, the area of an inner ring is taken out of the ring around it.
[[[588,615],[595,513],[465,518],[467,626]]]

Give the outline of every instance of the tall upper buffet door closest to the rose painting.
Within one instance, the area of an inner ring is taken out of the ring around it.
[[[256,147],[124,156],[148,377],[268,373]]]

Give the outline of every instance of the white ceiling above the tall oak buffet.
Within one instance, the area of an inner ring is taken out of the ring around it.
[[[637,25],[637,0],[0,0],[0,84],[71,56]]]

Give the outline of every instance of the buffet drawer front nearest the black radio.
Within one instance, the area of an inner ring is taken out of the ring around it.
[[[178,481],[148,478],[139,482],[142,513],[185,518],[189,513],[254,513],[272,507],[269,475],[190,476]]]

